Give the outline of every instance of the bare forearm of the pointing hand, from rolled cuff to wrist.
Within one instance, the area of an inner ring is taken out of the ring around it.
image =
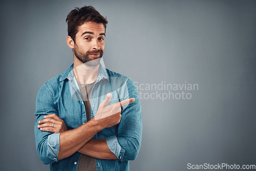
[[[69,157],[86,144],[102,127],[95,119],[82,124],[74,130],[62,132],[59,136],[58,159]]]

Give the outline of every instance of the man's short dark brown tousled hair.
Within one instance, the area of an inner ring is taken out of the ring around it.
[[[81,26],[84,22],[102,23],[105,27],[108,21],[92,6],[84,6],[81,8],[76,7],[68,14],[66,18],[68,22],[68,35],[75,41],[76,33],[78,32],[78,26]]]

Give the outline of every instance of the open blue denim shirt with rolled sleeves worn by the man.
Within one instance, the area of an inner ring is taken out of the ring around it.
[[[105,128],[93,139],[106,139],[109,149],[118,160],[95,159],[97,170],[129,170],[129,160],[134,160],[140,149],[142,137],[142,116],[139,95],[134,82],[121,74],[105,69],[100,64],[98,78],[91,95],[91,118],[99,104],[111,93],[108,105],[124,99],[135,98],[133,103],[123,106],[119,124]],[[68,130],[87,122],[81,93],[73,74],[73,65],[66,72],[47,81],[36,98],[35,141],[37,154],[41,161],[50,164],[51,170],[77,170],[80,153],[58,160],[59,134],[40,131],[38,121],[45,115],[55,113],[66,124]]]

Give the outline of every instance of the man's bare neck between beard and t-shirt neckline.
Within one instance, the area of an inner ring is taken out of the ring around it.
[[[97,66],[88,66],[74,56],[73,72],[79,84],[90,84],[98,78],[99,64]]]

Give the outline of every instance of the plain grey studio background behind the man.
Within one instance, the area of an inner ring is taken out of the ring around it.
[[[256,1],[1,1],[0,170],[49,170],[36,153],[35,99],[71,65],[65,20],[84,5],[108,18],[105,67],[141,95],[131,170],[256,164]]]

